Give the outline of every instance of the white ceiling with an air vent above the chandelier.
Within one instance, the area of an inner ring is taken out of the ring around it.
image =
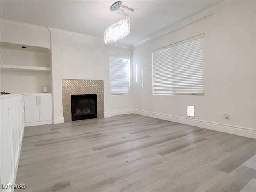
[[[136,10],[128,16],[110,12],[113,1],[4,1],[1,18],[103,37],[108,26],[129,18],[131,33],[120,40],[136,44],[179,20],[221,1],[136,0],[122,1]]]

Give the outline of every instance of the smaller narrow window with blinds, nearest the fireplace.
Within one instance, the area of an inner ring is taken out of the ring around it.
[[[130,59],[110,57],[111,94],[130,94]]]

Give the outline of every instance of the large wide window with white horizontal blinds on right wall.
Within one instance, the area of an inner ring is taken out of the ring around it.
[[[204,95],[204,34],[153,51],[153,94]]]

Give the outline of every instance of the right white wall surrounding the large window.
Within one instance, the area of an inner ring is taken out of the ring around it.
[[[255,1],[230,2],[213,15],[146,42],[134,49],[134,108],[186,118],[195,105],[195,120],[256,129]],[[152,50],[205,34],[204,96],[152,95]],[[144,72],[144,88],[142,75]],[[224,118],[230,115],[230,120]]]

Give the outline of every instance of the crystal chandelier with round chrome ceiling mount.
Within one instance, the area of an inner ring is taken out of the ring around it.
[[[120,8],[121,5],[122,2],[115,2],[110,6],[110,10],[116,11]],[[106,29],[104,33],[104,42],[106,44],[117,42],[126,37],[130,32],[130,19],[120,20]]]

